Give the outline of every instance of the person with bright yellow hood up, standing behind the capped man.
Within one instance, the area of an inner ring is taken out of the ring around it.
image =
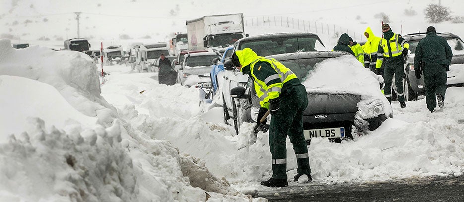
[[[364,31],[364,36],[366,36],[367,38],[367,42],[364,45],[362,45],[362,49],[366,54],[364,56],[366,59],[364,67],[369,67],[371,71],[377,75],[383,75],[383,68],[375,68],[377,62],[377,50],[379,48],[379,43],[380,40],[382,40],[382,38],[375,36],[370,27],[366,28],[366,31]]]

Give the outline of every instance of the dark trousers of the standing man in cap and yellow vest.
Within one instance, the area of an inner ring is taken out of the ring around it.
[[[397,87],[398,101],[404,102],[404,89],[403,89],[403,76],[404,76],[404,63],[403,57],[397,56],[394,58],[384,57],[384,94],[387,99],[391,100],[392,98],[392,79],[395,75],[395,86]]]

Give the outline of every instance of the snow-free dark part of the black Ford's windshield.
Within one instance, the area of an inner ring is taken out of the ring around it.
[[[287,68],[292,70],[293,73],[300,79],[301,82],[306,80],[309,73],[314,69],[317,63],[328,59],[325,57],[320,58],[307,58],[307,59],[293,59],[293,60],[285,60],[280,61],[283,65]]]

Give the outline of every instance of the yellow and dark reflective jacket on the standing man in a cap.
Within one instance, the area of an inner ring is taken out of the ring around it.
[[[377,52],[377,63],[375,68],[379,69],[382,66],[384,57],[393,58],[401,56],[403,48],[409,49],[409,43],[404,40],[400,34],[394,33],[389,40],[382,38],[379,43],[379,50]]]

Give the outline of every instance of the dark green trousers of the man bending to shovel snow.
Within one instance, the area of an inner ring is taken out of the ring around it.
[[[293,144],[299,174],[310,174],[308,147],[303,134],[303,111],[308,96],[302,84],[290,86],[279,95],[280,108],[272,114],[269,145],[272,154],[272,178],[287,179],[287,135]]]

